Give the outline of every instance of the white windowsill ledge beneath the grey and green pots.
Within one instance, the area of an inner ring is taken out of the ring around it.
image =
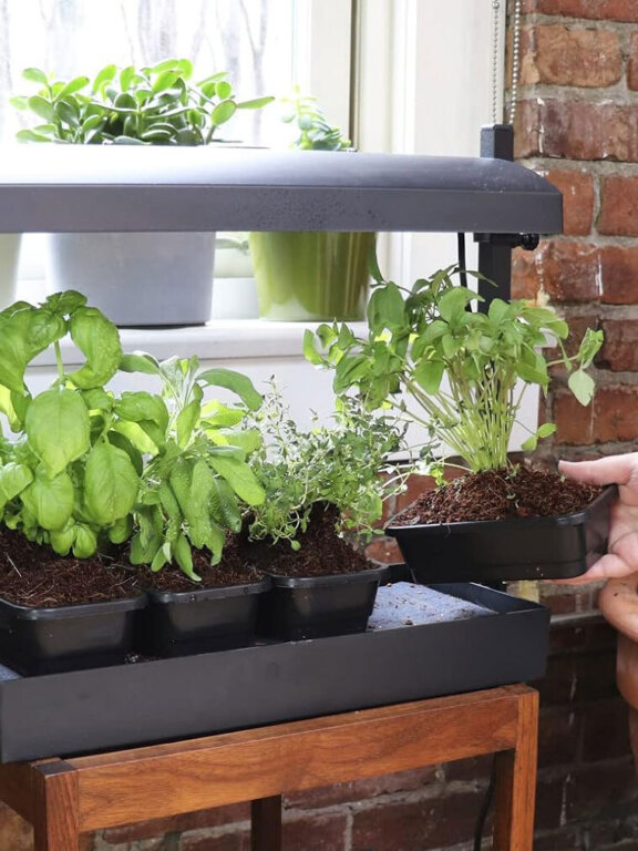
[[[187,328],[121,328],[124,351],[147,351],[158,360],[196,355],[202,360],[238,360],[270,358],[303,358],[303,331],[318,322],[271,322],[264,319],[219,319],[205,326]],[[356,334],[363,335],[366,322],[350,322]],[[62,357],[68,366],[83,362],[83,358],[66,338],[62,341]],[[43,352],[33,366],[55,363],[52,349]]]

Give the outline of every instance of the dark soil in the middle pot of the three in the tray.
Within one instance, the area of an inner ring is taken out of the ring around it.
[[[176,565],[166,565],[157,573],[153,573],[148,566],[137,567],[140,585],[152,591],[193,592],[199,588],[222,588],[225,585],[246,585],[259,582],[263,575],[245,564],[236,535],[228,536],[222,562],[214,567],[210,566],[210,554],[207,551],[194,550],[193,567],[202,582],[192,582]]]

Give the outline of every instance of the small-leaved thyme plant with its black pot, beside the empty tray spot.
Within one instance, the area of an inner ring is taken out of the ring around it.
[[[385,568],[343,533],[372,532],[401,488],[388,462],[401,427],[343,398],[332,426],[303,431],[275,389],[251,424],[263,437],[251,464],[266,499],[250,512],[244,557],[272,581],[261,629],[284,639],[363,630]]]

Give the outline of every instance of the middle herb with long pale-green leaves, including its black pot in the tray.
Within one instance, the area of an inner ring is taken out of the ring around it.
[[[255,430],[238,424],[261,406],[245,376],[200,370],[197,358],[160,363],[126,355],[125,371],[156,376],[161,394],[124,393],[135,426],[127,437],[151,457],[134,512],[137,531],[131,562],[150,605],[140,645],[150,655],[174,656],[249,644],[259,595],[270,585],[247,567],[237,535],[246,509],[257,510],[264,490],[247,459],[258,448]],[[204,389],[230,391],[237,402],[204,402]]]

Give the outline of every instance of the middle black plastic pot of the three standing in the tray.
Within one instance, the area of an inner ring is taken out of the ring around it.
[[[136,648],[148,656],[172,657],[253,644],[259,598],[269,587],[266,578],[218,588],[147,591]]]

